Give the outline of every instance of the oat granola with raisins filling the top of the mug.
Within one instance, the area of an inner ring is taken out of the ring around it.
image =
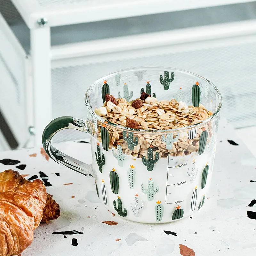
[[[187,106],[185,102],[178,102],[175,99],[158,101],[154,97],[144,95],[142,99],[145,98],[145,100],[141,100],[140,97],[140,99],[128,102],[124,98],[114,98],[113,100],[113,96],[111,96],[107,96],[107,99],[111,100],[105,101],[102,107],[95,109],[95,113],[107,121],[105,123],[110,137],[109,148],[116,147],[119,144],[123,153],[139,158],[147,157],[149,147],[153,148],[154,157],[156,152],[159,153],[159,157],[164,158],[168,154],[171,156],[185,156],[198,151],[199,138],[203,130],[207,129],[208,131],[207,140],[210,140],[213,135],[212,125],[208,123],[206,127],[196,130],[193,139],[189,139],[188,132],[181,132],[178,138],[176,138],[177,134],[173,134],[172,139],[175,142],[173,142],[172,148],[168,148],[164,142],[166,140],[161,135],[142,134],[133,131],[134,137],[138,137],[138,144],[131,150],[124,139],[123,131],[113,125],[108,126],[108,122],[124,127],[157,132],[158,130],[198,124],[210,117],[212,112],[202,104],[199,104],[199,107]],[[98,124],[97,139],[99,141],[101,141],[101,125]]]

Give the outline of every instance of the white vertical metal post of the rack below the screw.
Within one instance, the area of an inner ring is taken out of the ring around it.
[[[41,145],[44,127],[52,120],[50,28],[45,26],[31,29],[30,42],[35,145]]]

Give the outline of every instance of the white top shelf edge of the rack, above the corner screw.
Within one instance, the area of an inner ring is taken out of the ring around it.
[[[50,27],[175,12],[252,0],[12,0],[29,28],[46,18]]]

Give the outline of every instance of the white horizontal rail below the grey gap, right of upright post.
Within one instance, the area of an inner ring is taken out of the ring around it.
[[[239,44],[252,37],[256,37],[256,20],[58,45],[52,46],[52,68],[104,62],[110,57],[111,60],[144,57],[150,49],[154,49],[152,55],[159,55],[170,47],[172,52],[182,52],[188,47],[196,50],[227,43]]]

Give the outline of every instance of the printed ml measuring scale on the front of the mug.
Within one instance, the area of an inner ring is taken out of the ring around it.
[[[184,188],[182,188],[182,185],[186,184],[187,177],[186,172],[183,172],[183,170],[181,170],[180,168],[187,168],[187,163],[177,165],[178,162],[179,161],[177,160],[177,158],[174,160],[172,156],[170,156],[170,154],[168,155],[168,172],[165,197],[166,204],[179,204],[184,202],[184,199],[180,198],[179,195],[183,195],[184,193]],[[183,173],[185,175],[182,175]],[[177,177],[176,175],[178,175],[179,177]],[[177,200],[175,198],[177,198]]]

